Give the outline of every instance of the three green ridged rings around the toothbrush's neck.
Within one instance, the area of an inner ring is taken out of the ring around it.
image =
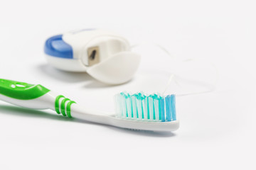
[[[61,101],[61,103],[60,103],[60,98],[63,98],[63,100]],[[66,108],[65,108],[65,103],[66,103],[66,101],[68,101],[68,104],[67,104],[67,106],[66,106]],[[75,101],[70,101],[69,98],[65,98],[65,96],[59,95],[59,96],[57,96],[56,99],[55,99],[55,111],[56,111],[58,114],[60,114],[60,112],[61,112],[61,114],[62,114],[63,116],[68,115],[68,118],[72,118],[72,116],[71,116],[71,105],[72,105],[73,103],[75,103]],[[67,113],[67,114],[66,114],[66,113]]]

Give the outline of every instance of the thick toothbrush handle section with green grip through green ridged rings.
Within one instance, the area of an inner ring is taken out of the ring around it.
[[[32,109],[48,109],[63,116],[70,114],[70,107],[75,101],[55,94],[46,87],[18,81],[0,79],[0,100],[16,106]]]

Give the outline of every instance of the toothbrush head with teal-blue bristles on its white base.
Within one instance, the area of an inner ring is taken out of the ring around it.
[[[174,94],[161,96],[146,95],[142,92],[137,94],[122,92],[115,96],[115,101],[116,118],[128,120],[132,124],[131,128],[155,131],[178,129]]]

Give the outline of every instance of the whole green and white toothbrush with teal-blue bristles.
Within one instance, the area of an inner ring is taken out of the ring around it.
[[[114,96],[116,113],[107,115],[90,108],[83,108],[75,101],[50,91],[40,84],[27,84],[0,79],[0,100],[31,109],[51,109],[69,118],[112,125],[134,130],[174,131],[176,120],[175,95],[146,96],[122,92]]]

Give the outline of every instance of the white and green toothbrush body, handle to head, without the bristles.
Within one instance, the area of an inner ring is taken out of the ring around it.
[[[29,92],[29,93],[28,93]],[[0,100],[31,109],[51,109],[64,116],[87,120],[93,123],[112,125],[135,130],[174,131],[178,120],[165,121],[144,118],[125,118],[120,113],[108,115],[79,106],[74,101],[46,89],[41,85],[26,84],[0,79]]]

